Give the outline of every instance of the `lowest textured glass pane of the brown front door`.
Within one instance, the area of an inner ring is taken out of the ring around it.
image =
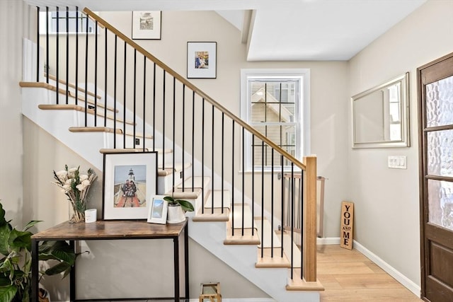
[[[453,182],[428,180],[428,221],[453,230]]]

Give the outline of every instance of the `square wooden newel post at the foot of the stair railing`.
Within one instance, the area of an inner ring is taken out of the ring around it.
[[[302,277],[306,282],[316,282],[316,156],[306,156],[304,165]]]

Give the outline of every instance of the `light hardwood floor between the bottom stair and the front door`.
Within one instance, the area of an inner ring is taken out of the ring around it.
[[[357,250],[319,245],[318,279],[324,301],[423,301]]]

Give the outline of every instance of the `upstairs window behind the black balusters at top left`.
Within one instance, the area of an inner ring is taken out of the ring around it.
[[[88,21],[88,25],[87,22]],[[40,34],[47,33],[94,33],[95,23],[80,11],[40,11]],[[58,28],[57,28],[58,25]]]

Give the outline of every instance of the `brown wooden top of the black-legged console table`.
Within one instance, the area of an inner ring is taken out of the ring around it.
[[[187,219],[181,223],[157,224],[147,221],[96,221],[69,223],[47,228],[32,236],[37,240],[102,240],[176,238],[182,233]]]

